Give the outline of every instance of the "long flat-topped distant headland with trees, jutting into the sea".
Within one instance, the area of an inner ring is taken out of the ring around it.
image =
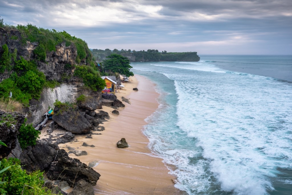
[[[112,53],[127,57],[131,62],[137,61],[199,61],[197,52],[159,52],[157,49],[148,49],[147,51],[135,50],[110,50],[110,49],[91,49],[93,56],[97,61],[105,60]]]

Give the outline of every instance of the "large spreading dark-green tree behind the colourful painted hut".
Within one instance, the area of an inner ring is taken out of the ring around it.
[[[134,73],[130,71],[130,60],[119,54],[110,54],[103,61],[102,65],[105,71],[117,72],[127,77],[134,76]]]

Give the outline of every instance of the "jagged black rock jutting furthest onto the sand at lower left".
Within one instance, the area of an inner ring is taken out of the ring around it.
[[[100,174],[86,164],[81,163],[80,160],[68,157],[66,151],[61,149],[58,152],[56,160],[51,163],[47,176],[52,180],[62,178],[62,180],[66,180],[70,186],[73,186],[73,184],[76,185],[77,181],[80,179],[84,179],[94,186]]]

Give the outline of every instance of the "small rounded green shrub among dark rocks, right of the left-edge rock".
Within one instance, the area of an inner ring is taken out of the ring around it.
[[[26,121],[26,120],[25,120]],[[35,146],[36,139],[39,138],[41,134],[40,131],[34,129],[32,124],[25,124],[25,122],[20,126],[18,141],[22,149],[27,148],[27,146]]]

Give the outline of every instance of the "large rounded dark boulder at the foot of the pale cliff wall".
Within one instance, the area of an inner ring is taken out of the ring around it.
[[[85,112],[79,112],[72,107],[54,108],[53,120],[67,131],[73,134],[86,134],[92,125],[85,118]]]

